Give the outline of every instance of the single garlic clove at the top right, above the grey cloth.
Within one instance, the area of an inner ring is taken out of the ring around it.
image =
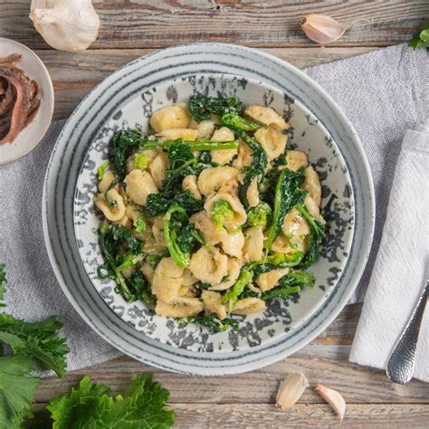
[[[320,44],[335,42],[348,29],[326,14],[308,14],[300,26],[309,39]]]

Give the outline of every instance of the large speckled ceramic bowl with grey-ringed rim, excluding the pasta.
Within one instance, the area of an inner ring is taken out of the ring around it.
[[[195,92],[265,103],[291,122],[291,144],[306,151],[323,192],[338,195],[328,240],[311,271],[316,287],[299,302],[274,300],[243,319],[240,331],[211,334],[179,326],[143,303],[127,303],[97,279],[102,262],[92,196],[95,169],[114,130],[147,129],[153,110]],[[369,252],[374,195],[356,133],[335,103],[304,73],[262,52],[203,43],[156,52],[113,73],[75,110],[55,147],[45,182],[44,228],[54,271],[81,316],[134,358],[201,375],[268,365],[307,344],[347,303]]]

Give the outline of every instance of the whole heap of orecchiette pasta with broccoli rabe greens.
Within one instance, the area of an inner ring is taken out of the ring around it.
[[[100,165],[100,279],[212,332],[311,289],[326,234],[319,177],[281,115],[196,94],[122,129]],[[291,161],[291,163],[289,162]]]

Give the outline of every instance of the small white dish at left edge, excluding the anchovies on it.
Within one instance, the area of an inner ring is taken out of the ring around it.
[[[48,130],[53,112],[52,80],[42,60],[24,44],[0,37],[0,58],[11,53],[18,53],[22,56],[18,67],[23,69],[29,78],[37,81],[41,100],[35,117],[27,127],[21,130],[14,142],[0,145],[0,164],[24,157],[35,148]]]

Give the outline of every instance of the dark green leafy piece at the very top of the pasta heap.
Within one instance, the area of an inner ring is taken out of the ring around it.
[[[218,99],[203,94],[191,97],[187,105],[196,122],[201,122],[204,119],[210,119],[210,114],[222,117],[225,113],[238,113],[242,110],[242,106],[242,102],[234,97],[229,99]]]

